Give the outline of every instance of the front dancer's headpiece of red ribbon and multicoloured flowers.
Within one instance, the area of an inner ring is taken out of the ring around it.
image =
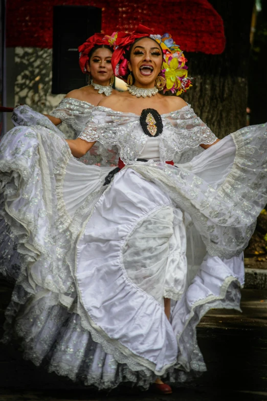
[[[191,79],[187,77],[187,66],[182,50],[177,46],[169,33],[163,36],[154,35],[153,31],[143,25],[139,25],[132,33],[116,32],[112,36],[105,36],[110,45],[115,47],[112,55],[112,67],[115,76],[126,80],[129,73],[125,52],[129,50],[133,42],[141,37],[150,37],[157,41],[163,51],[163,63],[160,75],[166,79],[163,92],[171,91],[179,96],[186,92],[191,84]]]

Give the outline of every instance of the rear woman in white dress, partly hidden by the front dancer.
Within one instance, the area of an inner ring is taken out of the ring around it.
[[[79,65],[84,74],[88,74],[88,85],[69,92],[51,113],[45,115],[54,125],[67,125],[69,137],[76,138],[86,122],[90,119],[92,109],[101,99],[118,93],[113,89],[114,74],[111,65],[113,46],[102,33],[89,37],[78,48]],[[27,105],[14,109],[14,125],[42,125],[50,129],[54,126],[42,114],[35,112]],[[60,127],[61,128],[61,127]],[[61,135],[60,131],[57,131]],[[86,164],[96,164],[100,160],[97,146],[81,158]],[[111,158],[110,163],[114,160]],[[0,220],[0,272],[7,280],[14,282],[19,274],[20,256],[16,250],[17,238],[4,219]]]

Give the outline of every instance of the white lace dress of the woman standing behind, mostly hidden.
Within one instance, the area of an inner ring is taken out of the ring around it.
[[[55,131],[63,138],[75,139],[85,128],[86,123],[92,116],[94,105],[86,101],[74,98],[64,98],[58,107],[51,112],[51,116],[60,118],[62,123],[55,125],[45,116],[33,111],[27,105],[19,106],[14,109],[12,121],[15,126],[44,126]],[[84,164],[117,165],[118,158],[116,153],[100,149],[101,144],[94,146],[79,161]],[[104,156],[104,158],[103,158]],[[0,273],[2,277],[10,282],[14,282],[19,275],[20,255],[17,252],[17,238],[12,233],[10,226],[4,219],[0,220]]]

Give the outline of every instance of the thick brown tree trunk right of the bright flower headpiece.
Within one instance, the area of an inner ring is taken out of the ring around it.
[[[218,138],[246,125],[253,0],[210,0],[224,20],[222,54],[186,53],[193,87],[182,97]],[[203,22],[205,24],[205,21]]]

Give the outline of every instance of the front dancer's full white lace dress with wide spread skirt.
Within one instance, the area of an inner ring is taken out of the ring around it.
[[[92,116],[80,137],[126,164],[109,185],[114,167],[80,163],[55,129],[17,126],[1,142],[1,213],[23,256],[5,338],[15,332],[36,365],[98,388],[183,382],[206,369],[203,314],[239,310],[240,253],[267,201],[266,125],[182,163],[216,139],[188,105],[161,116],[160,160],[141,162],[139,116]]]

